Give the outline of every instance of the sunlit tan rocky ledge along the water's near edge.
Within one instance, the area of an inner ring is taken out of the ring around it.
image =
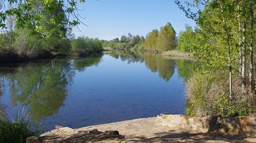
[[[121,135],[120,135],[121,134]],[[100,124],[79,129],[56,126],[40,142],[78,143],[256,143],[254,117],[157,117]]]

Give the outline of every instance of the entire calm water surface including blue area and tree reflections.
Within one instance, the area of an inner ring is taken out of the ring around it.
[[[0,111],[28,116],[54,129],[185,114],[183,80],[193,61],[113,51],[81,59],[0,65]]]

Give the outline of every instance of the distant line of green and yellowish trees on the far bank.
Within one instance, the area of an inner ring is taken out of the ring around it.
[[[146,38],[139,35],[133,36],[130,33],[128,33],[128,36],[121,36],[120,40],[119,38],[114,38],[113,40],[105,41],[103,47],[158,52],[178,49],[183,52],[188,52],[189,50],[187,48],[187,40],[189,40],[190,38],[187,37],[187,33],[190,33],[192,30],[192,28],[188,29],[188,27],[189,26],[186,26],[186,31],[182,31],[180,33],[181,37],[177,38],[173,26],[171,25],[171,23],[168,22],[166,23],[165,26],[162,26],[160,28],[160,31],[154,29],[151,32],[147,33]]]

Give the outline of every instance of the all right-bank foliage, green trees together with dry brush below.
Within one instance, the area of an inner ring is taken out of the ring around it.
[[[188,106],[192,108],[188,113],[255,115],[254,0],[192,0],[186,7],[179,0],[175,2],[199,26],[195,32],[188,27],[181,33],[178,48],[189,49],[208,73],[189,80]],[[219,75],[214,73],[216,69],[221,71]],[[198,88],[211,81],[207,77],[218,80],[209,84],[210,91],[200,92]]]

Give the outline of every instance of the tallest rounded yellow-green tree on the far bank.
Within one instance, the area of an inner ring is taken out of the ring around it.
[[[176,32],[171,26],[171,23],[168,22],[165,26],[161,27],[159,35],[157,37],[157,48],[160,51],[167,51],[174,49]]]

